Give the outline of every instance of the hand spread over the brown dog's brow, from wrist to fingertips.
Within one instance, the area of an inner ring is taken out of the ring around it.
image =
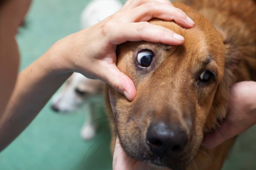
[[[169,0],[128,0],[112,16],[55,43],[52,53],[58,53],[57,67],[62,72],[79,72],[87,78],[103,80],[132,101],[136,89],[133,81],[116,67],[116,45],[142,40],[168,45],[184,42],[172,30],[146,22],[152,18],[174,20],[187,28],[194,26]]]

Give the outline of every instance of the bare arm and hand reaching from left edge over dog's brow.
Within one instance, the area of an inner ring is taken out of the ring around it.
[[[186,14],[168,0],[147,2],[149,0],[127,1],[116,14],[56,42],[20,73],[1,117],[0,150],[27,127],[72,72],[103,80],[129,100],[134,99],[136,90],[132,80],[116,67],[116,45],[142,40],[169,45],[184,42],[183,37],[171,30],[145,22],[153,17],[193,26]]]

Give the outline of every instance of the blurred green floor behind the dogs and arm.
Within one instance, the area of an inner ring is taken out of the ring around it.
[[[21,70],[42,55],[55,41],[79,30],[79,16],[88,0],[34,0],[28,27],[18,35]],[[123,1],[124,2],[124,1]],[[84,106],[86,107],[86,106]],[[55,114],[47,104],[29,127],[0,153],[0,170],[110,170],[110,134],[106,119],[95,139],[79,135],[83,108],[73,114]],[[103,112],[103,108],[99,108]],[[101,115],[104,117],[103,113]],[[225,170],[256,169],[256,127],[238,137]]]

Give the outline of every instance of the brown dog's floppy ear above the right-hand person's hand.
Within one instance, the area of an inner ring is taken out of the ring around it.
[[[236,81],[234,72],[237,70],[241,61],[241,54],[232,38],[228,37],[228,33],[224,30],[220,28],[216,29],[219,31],[225,46],[225,68],[223,78],[217,87],[212,107],[205,122],[204,132],[217,128],[219,122],[225,118],[228,107],[229,88]]]

